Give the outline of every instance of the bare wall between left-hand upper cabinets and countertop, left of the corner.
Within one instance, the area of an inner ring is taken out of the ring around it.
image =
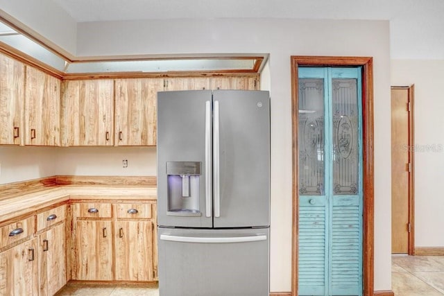
[[[54,175],[56,149],[0,146],[0,184]]]

